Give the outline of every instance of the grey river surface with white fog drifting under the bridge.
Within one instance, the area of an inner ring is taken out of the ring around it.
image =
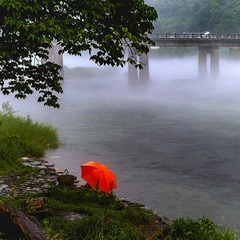
[[[240,229],[240,60],[221,59],[218,80],[197,78],[197,56],[150,60],[150,81],[129,88],[127,68],[93,68],[66,56],[60,109],[9,101],[20,115],[58,128],[46,159],[81,184],[80,165],[99,161],[119,196],[171,219],[206,216]],[[86,71],[87,70],[87,71]]]

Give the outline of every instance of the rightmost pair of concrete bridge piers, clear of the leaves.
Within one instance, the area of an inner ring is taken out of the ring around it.
[[[199,47],[198,48],[198,76],[204,79],[208,75],[207,54],[210,54],[210,76],[219,77],[219,52],[218,47]]]

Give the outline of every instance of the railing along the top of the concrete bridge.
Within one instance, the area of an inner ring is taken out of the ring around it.
[[[150,38],[163,38],[163,39],[190,39],[190,38],[203,38],[203,39],[240,39],[240,34],[218,34],[218,33],[164,33],[164,34],[151,34]]]

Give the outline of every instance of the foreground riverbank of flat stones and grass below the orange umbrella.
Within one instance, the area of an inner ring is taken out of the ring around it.
[[[5,184],[9,184],[9,190],[11,186],[12,192],[4,193],[8,197],[0,197],[1,202],[11,202],[14,207],[36,217],[50,239],[240,239],[206,218],[172,222],[145,209],[142,204],[123,201],[114,193],[105,194],[78,184],[60,186],[58,176],[64,172],[57,172],[54,165],[29,158],[23,158],[23,162],[37,167],[38,171],[29,175],[22,185],[14,186],[19,175],[7,176]]]

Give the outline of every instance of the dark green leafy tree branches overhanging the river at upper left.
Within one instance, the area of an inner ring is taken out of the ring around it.
[[[17,98],[38,92],[39,102],[59,107],[61,66],[48,58],[53,41],[59,53],[88,51],[99,65],[141,67],[125,51],[148,52],[156,19],[144,0],[0,0],[1,92]]]

